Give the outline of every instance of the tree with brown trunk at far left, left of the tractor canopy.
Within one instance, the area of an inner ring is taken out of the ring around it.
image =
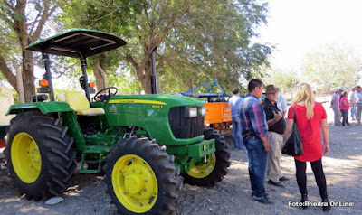
[[[23,96],[21,89],[24,87],[24,98],[27,102],[35,92],[35,78],[33,52],[25,50],[25,47],[39,39],[45,23],[60,3],[55,0],[2,0],[0,3],[0,47],[6,50],[0,52],[0,71],[19,93],[20,98]],[[22,81],[19,81],[19,78],[22,78]]]

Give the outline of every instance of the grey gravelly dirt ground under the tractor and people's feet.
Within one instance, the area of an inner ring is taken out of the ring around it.
[[[329,116],[331,151],[323,157],[323,166],[329,201],[339,204],[326,214],[362,214],[362,126],[355,126],[356,121],[351,121],[351,126],[332,126],[333,114],[328,102],[324,105]],[[232,145],[230,135],[225,136]],[[210,189],[185,184],[175,214],[325,214],[321,207],[301,210],[300,207],[290,205],[293,201],[300,201],[291,157],[283,155],[281,158],[281,169],[290,181],[284,182],[284,188],[266,183],[269,199],[274,203],[263,205],[252,200],[246,152],[231,149],[231,154],[232,164],[224,181]],[[46,205],[45,201],[28,201],[20,195],[8,177],[4,164],[1,165],[1,214],[117,214],[116,207],[110,204],[110,197],[105,192],[106,184],[101,176],[74,174],[71,186],[61,195],[64,201]],[[319,191],[310,164],[307,177],[309,199],[319,202]]]

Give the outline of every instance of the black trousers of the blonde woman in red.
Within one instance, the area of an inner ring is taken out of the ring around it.
[[[307,164],[305,162],[298,161],[294,159],[295,161],[295,168],[296,168],[296,177],[298,186],[300,188],[300,194],[307,195]],[[310,162],[311,169],[313,170],[314,177],[316,178],[317,186],[319,188],[319,194],[322,200],[325,200],[328,198],[327,193],[327,182],[326,182],[326,176],[323,172],[323,165],[322,165],[322,158],[315,162]]]

